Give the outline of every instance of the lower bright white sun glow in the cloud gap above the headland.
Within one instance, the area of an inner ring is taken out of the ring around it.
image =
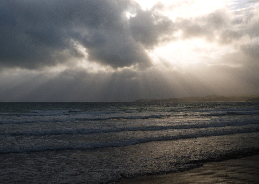
[[[218,43],[208,43],[204,39],[191,39],[172,41],[167,45],[156,47],[149,54],[156,60],[156,64],[160,58],[161,62],[167,62],[174,69],[184,70],[197,65],[200,67],[215,65],[222,55],[235,51],[237,50],[229,45],[219,46]]]

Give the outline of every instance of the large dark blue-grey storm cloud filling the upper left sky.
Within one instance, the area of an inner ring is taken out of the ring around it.
[[[127,10],[136,16],[128,20]],[[77,44],[89,60],[114,68],[148,66],[144,49],[172,29],[172,21],[131,0],[1,0],[0,24],[1,66],[24,68],[83,57]]]

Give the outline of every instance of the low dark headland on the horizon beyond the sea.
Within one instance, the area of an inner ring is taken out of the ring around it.
[[[168,99],[139,99],[134,102],[206,102],[206,101],[259,101],[259,94],[240,96],[209,95],[200,97],[181,97]]]

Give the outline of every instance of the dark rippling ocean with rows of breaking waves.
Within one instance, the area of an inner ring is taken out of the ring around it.
[[[114,183],[259,153],[259,102],[0,103],[0,183]]]

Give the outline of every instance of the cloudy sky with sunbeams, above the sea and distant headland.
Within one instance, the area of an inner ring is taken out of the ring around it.
[[[258,0],[0,0],[0,102],[259,93]]]

